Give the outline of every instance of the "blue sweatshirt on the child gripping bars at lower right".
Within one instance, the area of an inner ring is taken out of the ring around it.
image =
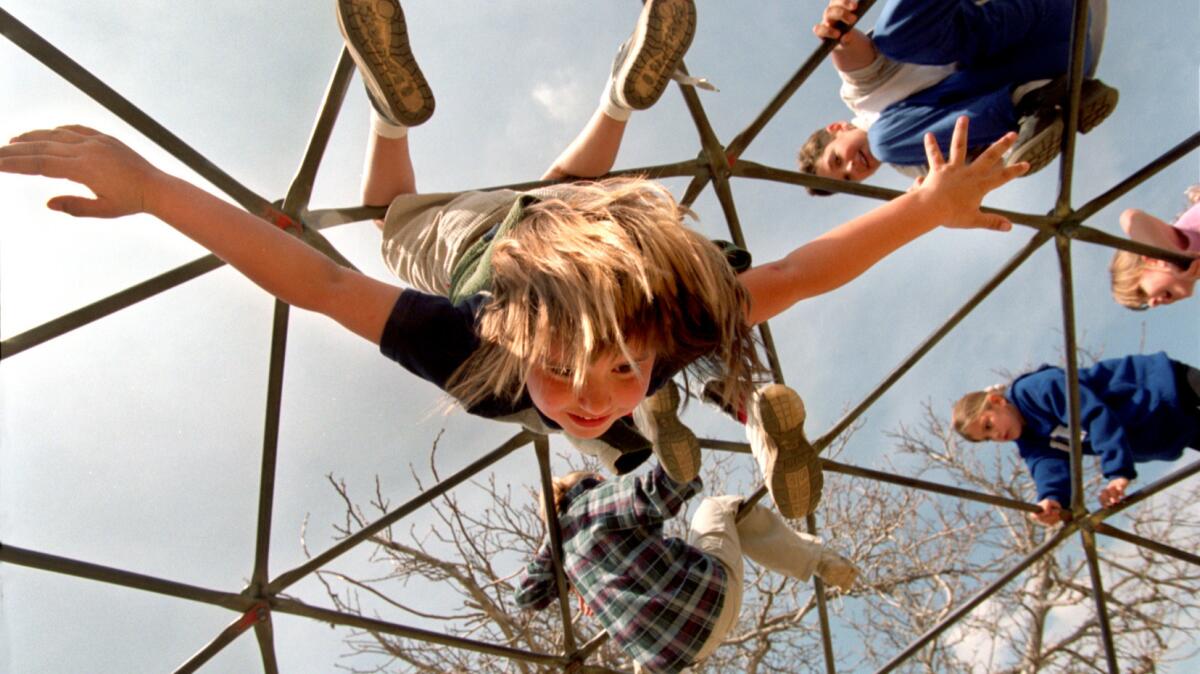
[[[1025,417],[1016,439],[1038,500],[1070,504],[1070,421],[1067,375],[1043,366],[1008,387]],[[1196,447],[1200,421],[1181,405],[1171,360],[1164,353],[1104,360],[1079,371],[1079,411],[1085,455],[1100,457],[1109,480],[1138,476],[1134,463],[1175,461]]]

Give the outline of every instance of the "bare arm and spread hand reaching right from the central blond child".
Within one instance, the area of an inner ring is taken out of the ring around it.
[[[920,187],[738,277],[750,291],[750,323],[762,323],[800,300],[848,283],[938,224],[1012,229],[1008,219],[982,212],[979,204],[988,192],[1028,170],[1024,162],[1004,166],[1003,155],[1015,139],[1016,134],[1009,133],[967,163],[967,118],[959,118],[954,126],[948,161],[937,140],[926,134],[930,174]]]

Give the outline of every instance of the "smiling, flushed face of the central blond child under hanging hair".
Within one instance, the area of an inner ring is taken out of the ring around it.
[[[526,380],[533,404],[569,435],[599,438],[646,399],[655,351],[632,344],[629,350],[634,361],[619,351],[593,360],[578,392],[571,385],[574,373],[569,368],[535,366]]]

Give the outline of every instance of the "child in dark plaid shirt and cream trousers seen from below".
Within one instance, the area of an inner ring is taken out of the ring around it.
[[[738,497],[704,499],[688,542],[664,537],[662,523],[700,493],[700,479],[679,483],[661,468],[614,480],[571,473],[554,479],[553,488],[569,586],[636,669],[682,672],[716,650],[742,608],[743,554],[792,578],[816,574],[842,591],[858,577],[850,560],[770,510],[755,505],[736,522]],[[547,542],[526,567],[516,602],[542,609],[556,598]]]

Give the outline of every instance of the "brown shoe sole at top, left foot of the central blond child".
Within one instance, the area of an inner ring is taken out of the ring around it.
[[[396,0],[338,0],[337,25],[376,110],[388,121],[416,126],[433,115],[433,91],[408,44]]]

